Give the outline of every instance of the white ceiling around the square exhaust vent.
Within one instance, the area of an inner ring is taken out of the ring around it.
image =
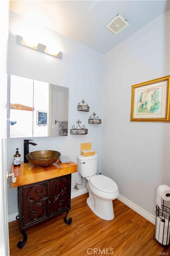
[[[170,9],[170,1],[10,1],[10,9],[106,54]],[[129,26],[118,35],[106,25],[121,14]]]

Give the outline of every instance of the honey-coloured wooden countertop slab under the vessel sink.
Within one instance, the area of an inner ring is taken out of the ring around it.
[[[77,164],[74,162],[62,164],[58,161],[49,166],[36,166],[21,162],[17,167],[12,164],[11,172],[14,172],[17,178],[15,183],[12,182],[12,188],[16,188],[77,172]]]

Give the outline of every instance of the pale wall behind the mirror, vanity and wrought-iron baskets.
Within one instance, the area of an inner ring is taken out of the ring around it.
[[[23,16],[10,12],[8,75],[13,74],[69,87],[69,131],[78,119],[82,121],[82,125],[89,129],[87,135],[70,135],[69,132],[68,137],[34,138],[38,145],[35,147],[30,145],[30,151],[58,150],[61,154],[68,155],[72,161],[77,162],[77,155],[80,154],[80,143],[91,142],[93,149],[99,154],[98,166],[100,170],[102,126],[88,124],[88,118],[94,111],[100,117],[102,116],[103,56],[70,38],[41,26],[37,28],[42,37],[40,43],[45,44],[46,39],[57,40],[62,46],[62,60],[22,47],[17,44],[16,34],[21,34],[25,24],[26,19]],[[90,105],[90,112],[77,111],[77,104],[82,99]],[[8,125],[8,171],[11,169],[16,147],[20,148],[23,161],[23,138],[10,139]],[[80,180],[78,173],[72,175],[72,191],[75,191],[73,186]],[[85,182],[82,188],[84,187]],[[11,182],[8,184],[8,209],[9,214],[17,211],[17,189],[11,188]]]

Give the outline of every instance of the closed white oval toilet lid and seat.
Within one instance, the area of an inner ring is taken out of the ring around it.
[[[89,183],[96,189],[106,193],[116,193],[118,191],[117,184],[104,175],[94,175],[90,177]]]

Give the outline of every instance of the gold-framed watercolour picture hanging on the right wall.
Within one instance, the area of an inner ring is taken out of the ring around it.
[[[132,85],[130,121],[170,122],[170,76]]]

